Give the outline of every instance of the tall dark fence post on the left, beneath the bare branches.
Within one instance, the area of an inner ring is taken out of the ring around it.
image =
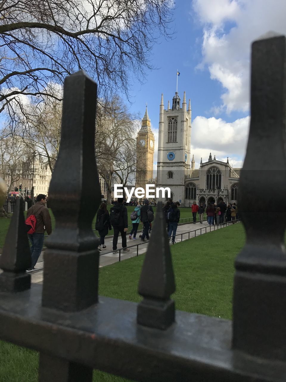
[[[49,188],[56,228],[44,254],[42,304],[48,308],[80,311],[98,301],[95,115],[96,83],[83,71],[66,77],[61,144]]]

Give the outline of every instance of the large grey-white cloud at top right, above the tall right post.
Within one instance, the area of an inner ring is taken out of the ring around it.
[[[202,64],[225,89],[217,110],[247,111],[251,42],[270,30],[286,34],[286,1],[194,0],[193,8],[204,28]],[[234,23],[228,32],[226,21]]]

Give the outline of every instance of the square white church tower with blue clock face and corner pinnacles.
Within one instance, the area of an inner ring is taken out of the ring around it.
[[[191,100],[189,100],[187,110],[186,92],[184,92],[182,107],[178,92],[175,92],[172,109],[168,101],[167,110],[164,110],[162,94],[159,117],[157,187],[170,187],[174,201],[183,202],[185,199],[185,179],[190,176],[191,167],[190,146]]]

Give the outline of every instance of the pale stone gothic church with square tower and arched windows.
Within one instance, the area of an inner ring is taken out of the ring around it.
[[[207,162],[200,163],[195,169],[194,156],[191,160],[191,100],[188,109],[184,92],[182,107],[178,92],[168,101],[164,109],[161,96],[159,117],[159,142],[157,160],[157,187],[169,187],[171,197],[181,206],[197,203],[237,202],[239,168],[230,163],[212,159],[210,153]],[[167,195],[159,199],[167,200]]]

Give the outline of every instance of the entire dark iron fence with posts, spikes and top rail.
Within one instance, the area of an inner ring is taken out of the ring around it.
[[[91,224],[101,192],[98,177],[90,176],[97,173],[96,85],[81,71],[66,78],[61,147],[49,190],[56,228],[47,240],[43,285],[31,285],[26,273],[31,256],[19,201],[0,259],[0,338],[40,352],[40,382],[91,382],[93,368],[142,382],[285,380],[285,71],[284,36],[254,42],[251,124],[238,196],[247,240],[235,261],[232,322],[175,310],[161,208],[141,270],[142,301],[98,297],[98,240]],[[271,200],[279,201],[275,219],[265,214],[268,179]]]

